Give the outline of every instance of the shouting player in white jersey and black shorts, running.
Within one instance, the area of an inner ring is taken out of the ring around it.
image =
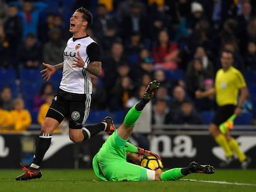
[[[64,62],[56,65],[43,63],[46,69],[41,73],[45,80],[49,80],[57,70],[62,70],[62,80],[41,126],[33,162],[29,168],[22,165],[25,172],[16,180],[41,177],[40,165],[51,144],[52,133],[64,118],[69,119],[69,138],[74,143],[85,141],[100,131],[106,131],[109,135],[114,131],[111,117],[106,117],[97,125],[83,127],[91,103],[92,82],[89,75],[101,74],[100,48],[86,32],[92,25],[92,19],[89,10],[83,7],[75,10],[70,17],[69,31],[73,35],[67,41]]]

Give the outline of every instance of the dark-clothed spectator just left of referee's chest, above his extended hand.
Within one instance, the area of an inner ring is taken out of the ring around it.
[[[210,75],[208,75],[207,70],[203,69],[203,64],[200,59],[193,59],[191,63],[191,69],[186,70],[186,82],[187,91],[189,91],[190,96],[194,98],[195,91],[203,90],[203,81],[210,78]]]

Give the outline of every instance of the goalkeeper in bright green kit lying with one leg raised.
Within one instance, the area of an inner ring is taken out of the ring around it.
[[[214,167],[191,162],[188,167],[174,168],[159,172],[140,167],[143,156],[150,154],[161,159],[154,152],[138,148],[127,142],[134,124],[139,119],[145,105],[154,96],[160,83],[153,80],[140,102],[127,112],[124,122],[109,136],[98,153],[93,157],[93,170],[97,177],[104,181],[147,181],[147,180],[177,180],[189,173],[215,173]],[[114,127],[113,122],[111,126]],[[127,162],[129,160],[130,162]]]

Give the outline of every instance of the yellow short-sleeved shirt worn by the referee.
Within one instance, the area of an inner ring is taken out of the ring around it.
[[[234,67],[218,70],[215,78],[216,102],[218,106],[237,105],[239,90],[246,86],[242,73]]]

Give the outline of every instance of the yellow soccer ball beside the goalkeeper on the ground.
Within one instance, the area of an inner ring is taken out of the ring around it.
[[[140,166],[145,167],[146,169],[162,171],[163,163],[160,159],[157,159],[155,156],[145,156],[144,159],[140,162]]]

